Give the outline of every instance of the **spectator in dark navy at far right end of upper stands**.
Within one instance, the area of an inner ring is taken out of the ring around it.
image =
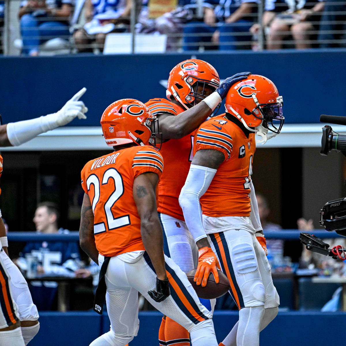
[[[334,32],[333,32],[334,31]],[[346,34],[346,3],[344,0],[326,1],[321,17],[318,40],[321,48],[345,47],[345,43],[335,40],[345,39]]]

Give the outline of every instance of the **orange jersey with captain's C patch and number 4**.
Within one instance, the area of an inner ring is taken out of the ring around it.
[[[247,138],[238,125],[221,115],[207,120],[196,131],[193,152],[202,149],[214,149],[225,155],[207,192],[200,198],[203,214],[250,216],[255,134]]]

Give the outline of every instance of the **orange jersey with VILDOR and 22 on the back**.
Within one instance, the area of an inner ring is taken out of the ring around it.
[[[142,173],[154,172],[160,177],[162,170],[162,156],[151,146],[122,149],[84,166],[82,188],[92,204],[95,243],[101,255],[145,250],[133,184]]]

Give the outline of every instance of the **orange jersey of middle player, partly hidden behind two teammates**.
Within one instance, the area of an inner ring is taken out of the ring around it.
[[[178,115],[184,110],[165,99],[151,99],[146,103],[152,115],[162,113]],[[160,126],[160,119],[159,119]],[[165,170],[158,184],[157,211],[184,221],[179,205],[179,194],[185,184],[192,161],[193,134],[162,143],[160,153],[165,161]]]

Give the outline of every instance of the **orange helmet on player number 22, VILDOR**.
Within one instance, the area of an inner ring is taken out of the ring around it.
[[[148,107],[135,99],[122,99],[110,104],[101,117],[101,127],[108,146],[136,143],[156,146],[155,123]],[[154,128],[154,132],[151,130]]]

